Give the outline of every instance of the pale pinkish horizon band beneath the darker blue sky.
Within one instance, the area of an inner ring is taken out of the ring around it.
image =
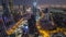
[[[21,4],[20,8],[22,8],[23,5]],[[26,5],[28,8],[32,8],[31,5]],[[42,4],[42,5],[37,5],[37,8],[66,8],[66,4]],[[19,8],[19,5],[13,5],[13,8]],[[2,5],[0,5],[0,9],[2,9]]]

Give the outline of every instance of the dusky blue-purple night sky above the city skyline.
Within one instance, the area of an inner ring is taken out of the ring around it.
[[[31,4],[34,0],[13,0],[13,4]],[[37,0],[37,4],[66,4],[66,0]],[[1,0],[0,0],[1,5]]]

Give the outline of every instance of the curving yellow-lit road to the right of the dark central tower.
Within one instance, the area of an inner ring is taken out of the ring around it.
[[[51,37],[52,34],[54,33],[63,33],[66,35],[66,29],[65,28],[59,28],[59,27],[56,27],[56,29],[53,29],[53,30],[46,30],[44,28],[42,28],[41,24],[40,24],[40,20],[44,16],[44,14],[42,13],[42,16],[36,21],[36,27],[40,32],[40,34],[43,36],[43,37]],[[53,20],[53,17],[52,17]],[[54,25],[53,21],[52,21],[52,24]]]

